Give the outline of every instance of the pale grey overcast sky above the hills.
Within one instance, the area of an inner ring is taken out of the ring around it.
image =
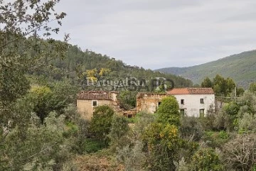
[[[59,35],[146,69],[188,67],[256,48],[255,0],[62,0]]]

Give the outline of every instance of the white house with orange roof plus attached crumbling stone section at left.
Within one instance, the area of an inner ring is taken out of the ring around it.
[[[215,95],[212,88],[176,88],[165,94],[138,93],[137,112],[154,114],[166,96],[175,96],[182,115],[203,117],[208,110],[215,109]]]

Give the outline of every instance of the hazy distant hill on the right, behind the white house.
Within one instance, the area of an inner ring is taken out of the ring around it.
[[[247,87],[250,82],[256,82],[256,50],[193,67],[166,67],[157,71],[191,79],[194,84],[200,84],[205,77],[213,78],[218,74],[231,77],[238,85]]]

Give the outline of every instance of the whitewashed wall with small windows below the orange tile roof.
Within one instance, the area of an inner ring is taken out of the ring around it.
[[[210,105],[215,109],[215,95],[214,94],[180,94],[174,95],[178,101],[180,109],[185,109],[186,116],[200,116],[200,109],[204,109],[205,116]],[[181,104],[181,99],[184,99],[184,104]],[[203,99],[203,104],[200,103]]]

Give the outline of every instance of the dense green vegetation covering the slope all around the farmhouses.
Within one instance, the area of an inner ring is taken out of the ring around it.
[[[206,118],[181,117],[169,96],[156,114],[128,119],[97,106],[87,121],[75,107],[84,77],[191,82],[51,40],[59,31],[51,18],[65,17],[54,11],[58,0],[0,4],[0,170],[256,170],[255,83]],[[230,81],[218,78],[214,86]],[[124,108],[134,106],[132,93],[120,94]]]

